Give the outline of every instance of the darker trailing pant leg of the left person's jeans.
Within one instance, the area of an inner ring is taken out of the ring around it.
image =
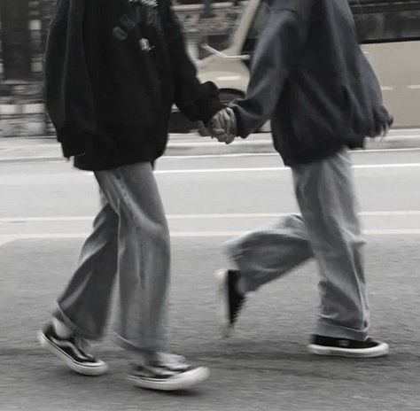
[[[53,315],[80,337],[103,335],[117,273],[118,216],[101,192],[101,209],[73,278]]]

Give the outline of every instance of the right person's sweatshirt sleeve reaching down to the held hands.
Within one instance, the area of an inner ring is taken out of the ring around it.
[[[253,56],[246,96],[232,105],[237,134],[249,136],[276,109],[290,69],[305,43],[314,0],[273,0]]]

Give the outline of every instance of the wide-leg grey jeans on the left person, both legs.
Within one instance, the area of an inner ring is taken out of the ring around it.
[[[101,209],[54,316],[80,337],[104,333],[118,273],[121,345],[166,352],[167,219],[150,163],[96,172]]]

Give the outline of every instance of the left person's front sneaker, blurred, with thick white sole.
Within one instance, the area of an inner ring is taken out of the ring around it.
[[[133,367],[128,380],[147,390],[179,391],[202,383],[208,376],[206,367],[191,368],[183,357],[163,354],[156,361]]]

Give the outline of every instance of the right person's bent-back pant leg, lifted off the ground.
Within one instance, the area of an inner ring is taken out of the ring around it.
[[[256,291],[313,257],[305,224],[294,214],[230,240],[225,248],[243,274],[244,291]]]

